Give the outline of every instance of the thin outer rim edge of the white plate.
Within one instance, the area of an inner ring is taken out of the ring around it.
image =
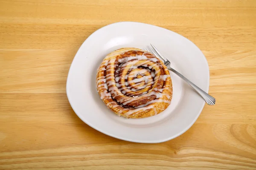
[[[81,48],[82,48],[82,46],[84,45],[84,43],[86,43],[87,40],[88,40],[90,37],[92,37],[93,34],[96,34],[98,31],[100,31],[100,30],[102,30],[102,29],[104,29],[104,28],[106,28],[106,27],[113,26],[113,25],[117,25],[117,24],[122,24],[122,23],[143,24],[143,25],[147,25],[147,26],[151,26],[151,27],[153,26],[153,27],[157,27],[157,28],[161,28],[161,29],[164,29],[164,30],[171,31],[171,30],[169,30],[169,29],[166,29],[166,28],[163,28],[163,27],[160,27],[160,26],[154,26],[154,25],[147,24],[147,23],[140,23],[140,22],[133,22],[133,21],[122,21],[122,22],[116,22],[116,23],[108,24],[108,25],[106,25],[106,26],[103,26],[103,27],[97,29],[96,31],[94,31],[92,34],[90,34],[90,35],[84,40],[84,42],[80,45],[78,51],[76,52],[76,55],[74,56],[74,58],[73,58],[73,60],[72,60],[72,63],[71,63],[71,65],[70,65],[70,68],[71,68],[72,65],[74,64],[74,59],[75,59],[75,58],[77,57],[77,55],[79,54],[79,51],[81,51]],[[178,33],[174,32],[174,31],[171,31],[171,32],[174,33],[174,34],[178,34]],[[178,35],[180,35],[180,34],[178,34]],[[195,45],[194,42],[190,41],[189,39],[187,39],[187,38],[184,37],[183,35],[180,35],[180,36],[182,36],[183,38],[185,38],[186,40],[188,40],[189,42],[191,42],[193,45]],[[195,47],[198,48],[197,45],[195,45]],[[198,49],[201,51],[200,48],[198,48]],[[201,51],[201,53],[203,54],[202,51]],[[203,56],[204,56],[204,54],[203,54]],[[209,64],[208,64],[207,58],[206,58],[205,56],[203,57],[203,59],[205,60],[205,63],[207,64],[207,71],[208,71],[207,76],[208,76],[208,80],[207,80],[207,89],[206,89],[206,92],[208,93],[208,92],[209,92],[209,80],[210,80]],[[76,108],[73,106],[73,104],[72,104],[72,102],[71,102],[70,95],[69,95],[69,92],[68,92],[68,89],[69,89],[69,83],[68,83],[68,82],[69,82],[69,79],[70,79],[70,70],[71,70],[70,68],[69,68],[68,75],[67,75],[66,94],[67,94],[67,99],[68,99],[68,101],[69,101],[69,103],[70,103],[71,108],[72,108],[73,111],[76,113],[76,115],[79,117],[79,119],[81,119],[84,123],[86,123],[87,125],[89,125],[89,126],[92,127],[93,129],[95,129],[95,130],[97,130],[97,131],[99,131],[99,132],[101,132],[101,133],[103,133],[103,134],[105,134],[105,135],[108,135],[108,136],[111,136],[111,137],[113,137],[113,138],[116,138],[116,139],[121,139],[121,140],[128,141],[128,142],[150,143],[150,144],[153,144],[153,143],[162,143],[162,142],[166,142],[166,141],[175,139],[176,137],[182,135],[182,134],[185,133],[187,130],[189,130],[189,128],[192,127],[192,125],[194,125],[194,123],[196,122],[196,120],[197,120],[198,117],[200,116],[200,114],[201,114],[201,112],[202,112],[202,110],[204,109],[204,106],[205,106],[205,102],[204,102],[204,105],[202,105],[202,107],[201,107],[201,109],[200,109],[198,115],[195,117],[195,119],[193,119],[193,121],[192,121],[188,126],[186,126],[186,128],[184,128],[180,133],[177,133],[177,135],[168,137],[167,139],[163,139],[163,140],[159,140],[159,139],[156,140],[156,139],[154,139],[154,141],[153,141],[153,140],[151,140],[151,141],[142,141],[142,140],[137,140],[137,139],[136,139],[136,140],[133,140],[133,139],[128,139],[128,138],[116,136],[116,135],[113,135],[113,134],[111,134],[111,133],[105,132],[104,130],[101,130],[101,129],[99,129],[99,128],[93,126],[92,124],[90,124],[89,122],[87,122],[86,119],[84,119],[81,115],[78,114],[78,112],[76,111]]]

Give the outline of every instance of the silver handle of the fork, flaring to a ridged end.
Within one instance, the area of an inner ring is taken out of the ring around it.
[[[172,72],[174,72],[175,74],[177,74],[180,78],[182,78],[183,80],[185,80],[185,82],[187,82],[192,88],[195,89],[196,92],[198,92],[198,94],[204,99],[204,101],[208,104],[208,105],[215,105],[215,98],[212,97],[211,95],[207,94],[205,91],[203,91],[201,88],[199,88],[197,85],[195,85],[194,83],[192,83],[189,79],[187,79],[186,77],[184,77],[182,74],[180,74],[179,72],[177,72],[175,69],[169,67],[169,70],[171,70]]]

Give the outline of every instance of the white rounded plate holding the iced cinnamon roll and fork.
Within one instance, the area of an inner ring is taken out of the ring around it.
[[[125,119],[113,113],[96,91],[97,68],[104,57],[119,48],[145,48],[154,44],[172,66],[204,91],[209,90],[209,67],[200,49],[185,37],[144,23],[114,23],[95,31],[79,48],[67,77],[67,97],[77,116],[87,125],[118,139],[165,142],[191,127],[204,100],[171,73],[173,98],[162,113],[143,119]]]

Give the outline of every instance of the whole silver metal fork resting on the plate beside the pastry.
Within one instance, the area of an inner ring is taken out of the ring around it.
[[[166,59],[166,57],[163,56],[163,54],[161,54],[157,48],[155,48],[154,45],[150,44],[150,46],[146,47],[146,51],[154,54],[157,58],[162,59],[164,64],[167,66],[167,68],[171,71],[173,71],[175,74],[177,74],[180,78],[182,78],[183,80],[185,80],[185,82],[187,82],[192,88],[195,89],[196,92],[198,92],[198,94],[205,100],[205,102],[208,105],[215,105],[215,98],[212,97],[211,95],[207,94],[205,91],[203,91],[201,88],[199,88],[197,85],[195,85],[194,83],[192,83],[189,79],[187,79],[186,77],[184,77],[182,74],[180,74],[179,72],[177,72],[175,69],[171,68],[170,65],[170,61],[168,59]]]

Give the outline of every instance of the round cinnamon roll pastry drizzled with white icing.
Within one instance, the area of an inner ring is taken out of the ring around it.
[[[96,87],[108,108],[126,118],[154,116],[172,99],[166,65],[138,48],[121,48],[108,54],[98,68]]]

